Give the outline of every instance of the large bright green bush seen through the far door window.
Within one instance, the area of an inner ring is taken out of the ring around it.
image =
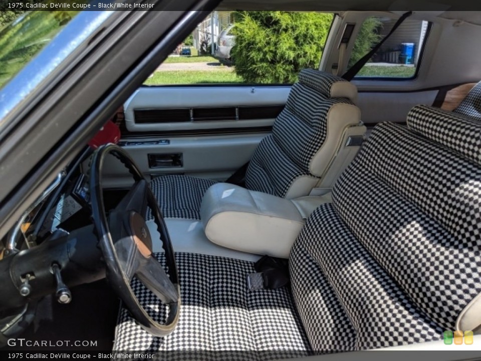
[[[317,68],[332,14],[238,12],[230,54],[248,83],[293,83],[303,68]]]

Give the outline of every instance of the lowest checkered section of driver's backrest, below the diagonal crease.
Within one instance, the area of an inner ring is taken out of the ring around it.
[[[311,215],[291,251],[290,264],[296,305],[314,349],[371,349],[434,340],[442,334],[331,204]]]

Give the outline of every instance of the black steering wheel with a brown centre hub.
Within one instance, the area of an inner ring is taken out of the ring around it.
[[[135,183],[107,218],[102,196],[102,168],[108,154],[118,158],[133,175]],[[177,325],[180,288],[174,252],[167,227],[147,180],[125,150],[115,144],[99,147],[93,156],[90,191],[92,215],[106,263],[107,279],[137,322],[155,336],[165,336]],[[152,239],[144,217],[150,208],[165,252],[167,272],[152,256]],[[169,307],[164,324],[142,307],[131,288],[133,277]]]

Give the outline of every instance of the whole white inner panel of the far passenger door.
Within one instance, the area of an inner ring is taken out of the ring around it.
[[[290,86],[142,87],[124,104],[122,145],[148,179],[185,174],[225,180],[272,130]],[[115,160],[107,187],[130,175]]]

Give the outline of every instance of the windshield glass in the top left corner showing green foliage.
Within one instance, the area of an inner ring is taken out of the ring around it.
[[[0,16],[0,89],[32,60],[60,30],[75,11],[2,12]],[[16,18],[18,17],[18,18]],[[15,19],[13,22],[12,19]]]

